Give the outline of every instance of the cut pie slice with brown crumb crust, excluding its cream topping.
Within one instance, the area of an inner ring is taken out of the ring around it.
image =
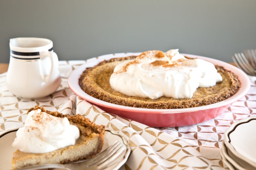
[[[70,145],[48,153],[26,153],[19,150],[13,153],[12,169],[18,169],[38,164],[66,164],[83,159],[89,159],[98,154],[104,145],[105,126],[97,125],[82,115],[63,115],[59,112],[51,112],[43,107],[35,106],[28,110],[41,109],[56,117],[67,117],[69,123],[75,125],[80,136],[75,141],[75,145]]]

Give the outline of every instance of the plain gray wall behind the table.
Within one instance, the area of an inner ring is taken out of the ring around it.
[[[232,62],[256,49],[256,0],[0,0],[0,62],[15,37],[51,39],[59,60],[179,48]]]

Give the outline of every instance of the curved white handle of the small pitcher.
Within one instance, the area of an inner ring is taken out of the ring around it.
[[[53,81],[59,75],[59,60],[57,54],[53,51],[40,52],[40,59],[44,59],[45,57],[49,57],[51,60],[50,72],[44,77],[45,82],[49,82]]]

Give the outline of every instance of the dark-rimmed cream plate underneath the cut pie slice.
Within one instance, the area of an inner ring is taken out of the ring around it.
[[[0,135],[0,170],[11,169],[12,153],[16,150],[11,146],[11,144],[16,137],[17,130],[18,129],[11,130]],[[126,152],[123,152],[122,155],[120,155],[120,157],[118,157],[113,163],[111,163],[111,165],[109,165],[106,170],[119,169],[127,161],[128,156],[130,155],[131,149],[127,143],[127,140],[118,133],[108,129],[105,130],[105,144],[102,148],[102,151],[104,151],[110,145],[113,145],[117,140],[119,140],[121,144],[123,144],[127,148],[127,150]],[[66,165],[68,167],[72,166],[72,169],[74,168],[74,170],[84,169],[84,167],[82,167],[81,165],[79,166],[79,163]]]

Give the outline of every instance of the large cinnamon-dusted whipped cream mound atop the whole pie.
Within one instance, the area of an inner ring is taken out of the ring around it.
[[[198,87],[215,86],[220,81],[222,77],[214,64],[187,59],[178,49],[143,52],[136,59],[118,64],[109,80],[115,91],[150,99],[191,98]]]

